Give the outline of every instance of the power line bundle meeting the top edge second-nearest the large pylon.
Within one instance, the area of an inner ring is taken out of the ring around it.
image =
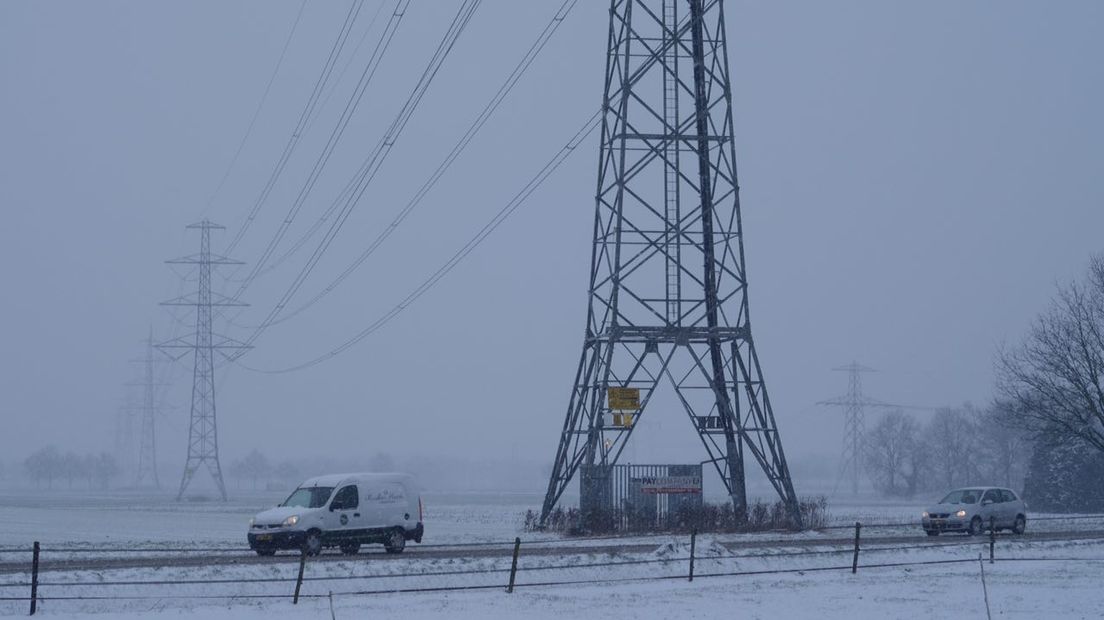
[[[245,340],[247,344],[252,344],[266,329],[272,327],[273,321],[279,316],[283,309],[290,301],[291,297],[302,286],[302,282],[306,281],[307,277],[315,269],[315,266],[318,264],[322,255],[329,248],[329,245],[333,242],[333,238],[337,236],[338,232],[344,225],[344,222],[349,217],[349,214],[352,212],[353,207],[355,207],[357,203],[360,202],[360,199],[363,195],[364,191],[368,189],[368,185],[375,178],[375,174],[376,172],[379,172],[380,167],[386,160],[388,154],[391,152],[391,148],[394,146],[395,141],[397,141],[399,137],[402,135],[403,129],[410,122],[411,118],[414,115],[414,111],[418,107],[418,104],[421,104],[423,97],[425,96],[425,93],[429,88],[433,78],[440,71],[440,67],[444,64],[445,58],[448,57],[449,52],[452,52],[454,45],[459,40],[460,34],[463,34],[464,30],[467,28],[467,24],[470,22],[471,17],[475,14],[476,9],[479,8],[481,1],[482,0],[465,0],[464,3],[460,6],[459,11],[453,19],[453,23],[449,25],[448,31],[445,33],[445,36],[438,44],[437,50],[434,52],[433,57],[431,58],[429,63],[423,71],[422,77],[418,79],[414,89],[411,92],[410,96],[406,99],[406,103],[403,105],[402,109],[392,121],[391,127],[380,139],[379,143],[375,146],[375,149],[373,149],[372,153],[368,157],[368,159],[364,160],[363,164],[358,171],[358,174],[354,178],[355,190],[351,194],[349,194],[349,197],[342,205],[340,212],[337,215],[337,218],[333,221],[332,224],[330,224],[330,228],[326,232],[322,239],[319,242],[318,247],[315,248],[315,252],[307,259],[307,263],[300,269],[299,274],[293,280],[291,285],[287,288],[287,290],[280,297],[280,299],[268,312],[268,316],[265,317],[264,321],[262,321],[254,330],[254,332]],[[244,287],[248,286],[250,281],[251,280],[244,282],[242,288],[244,289]]]

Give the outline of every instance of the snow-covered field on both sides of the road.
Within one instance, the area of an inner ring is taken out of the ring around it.
[[[26,548],[81,545],[241,547],[248,517],[280,498],[256,494],[230,503],[177,504],[169,498],[119,493],[112,496],[0,494],[0,547]],[[700,536],[697,578],[687,582],[686,536],[639,538],[655,547],[645,553],[528,554],[550,535],[521,532],[524,511],[537,495],[426,496],[426,543],[500,542],[520,535],[526,543],[519,562],[517,591],[505,592],[508,557],[427,557],[413,553],[390,557],[379,553],[354,559],[308,563],[304,600],[290,602],[297,565],[265,563],[190,567],[46,571],[42,574],[39,611],[47,617],[89,618],[329,618],[333,592],[336,618],[396,616],[403,618],[696,618],[737,612],[747,618],[911,618],[917,614],[985,618],[980,566],[987,548],[980,542],[945,536],[931,548],[878,550],[864,546],[858,575],[851,575],[850,549],[830,546],[843,533],[778,533]],[[912,503],[839,502],[840,523],[899,522],[914,519]],[[1034,522],[1038,530],[1070,528],[1072,522]],[[1083,522],[1101,527],[1101,522]],[[866,532],[864,532],[866,533]],[[919,534],[915,527],[878,534]],[[721,543],[803,538],[816,547],[768,547],[730,550]],[[925,544],[923,536],[916,543]],[[584,543],[573,543],[584,544]],[[899,546],[899,545],[893,545]],[[905,545],[911,546],[911,545]],[[820,552],[788,555],[795,552]],[[733,557],[763,554],[774,557]],[[66,554],[44,554],[44,560]],[[987,557],[987,556],[986,556]],[[0,552],[0,560],[25,560],[25,552]],[[985,564],[992,616],[1001,618],[1104,617],[1104,541],[1026,542],[1002,537],[998,562]],[[1030,560],[1015,560],[1031,558]],[[875,564],[969,560],[893,567]],[[598,565],[598,566],[587,566]],[[772,573],[800,570],[799,573]],[[718,575],[743,573],[743,575]],[[396,575],[407,575],[397,577]],[[657,577],[678,577],[660,580]],[[0,576],[0,584],[24,584],[28,575]],[[267,581],[274,579],[275,581]],[[110,585],[118,581],[160,585]],[[190,580],[215,581],[188,584]],[[75,581],[95,586],[68,586]],[[571,585],[535,585],[573,581]],[[354,595],[374,590],[452,588],[486,589]],[[0,597],[25,597],[26,588],[0,588]],[[68,596],[138,597],[121,600],[61,600]],[[237,597],[202,599],[199,597]],[[278,598],[247,598],[272,596]],[[316,598],[320,597],[320,598]],[[25,601],[0,601],[0,614],[26,612]]]

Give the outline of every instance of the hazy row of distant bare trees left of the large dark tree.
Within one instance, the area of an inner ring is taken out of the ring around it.
[[[925,418],[891,411],[867,434],[867,472],[879,492],[911,498],[966,484],[1021,487],[1030,438],[1007,407],[964,405]]]

